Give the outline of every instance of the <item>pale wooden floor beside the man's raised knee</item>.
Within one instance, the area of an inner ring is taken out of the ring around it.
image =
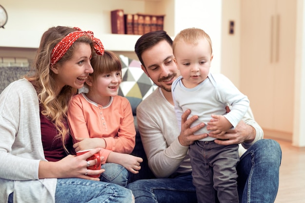
[[[281,145],[282,163],[275,203],[305,203],[305,148],[293,147],[283,140],[276,141]]]

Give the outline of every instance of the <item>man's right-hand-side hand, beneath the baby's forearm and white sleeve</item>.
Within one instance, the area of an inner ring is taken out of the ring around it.
[[[208,123],[210,125],[210,122]],[[231,145],[239,144],[242,142],[252,142],[255,138],[256,132],[255,129],[247,125],[243,120],[241,120],[234,130],[227,131],[224,135],[213,135],[210,137],[216,138],[215,143],[220,145]]]

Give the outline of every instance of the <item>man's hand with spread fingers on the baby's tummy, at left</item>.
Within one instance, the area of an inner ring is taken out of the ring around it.
[[[191,145],[195,140],[205,138],[208,136],[208,134],[202,134],[202,135],[194,135],[194,132],[197,130],[203,128],[205,126],[204,123],[200,123],[192,128],[190,128],[191,124],[198,119],[198,116],[194,115],[191,118],[187,119],[188,116],[191,114],[191,110],[186,110],[182,116],[181,116],[181,133],[178,136],[178,140],[181,145],[183,146],[189,146]]]

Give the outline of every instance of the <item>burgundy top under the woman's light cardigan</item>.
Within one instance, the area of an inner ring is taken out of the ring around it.
[[[64,123],[67,127],[67,122]],[[67,152],[62,147],[60,138],[54,139],[58,134],[54,123],[43,116],[40,111],[41,140],[44,156],[48,161],[59,161],[67,156]],[[65,145],[70,150],[72,148],[72,137],[66,136]]]

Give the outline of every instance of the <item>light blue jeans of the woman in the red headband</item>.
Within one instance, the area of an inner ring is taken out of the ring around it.
[[[132,192],[125,187],[80,178],[57,179],[55,203],[132,203]],[[13,193],[8,197],[13,203]]]

